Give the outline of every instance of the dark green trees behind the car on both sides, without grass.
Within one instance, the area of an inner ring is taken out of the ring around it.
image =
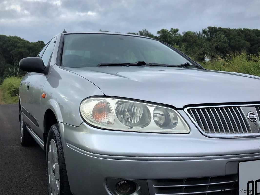
[[[259,29],[208,27],[199,32],[180,33],[179,29],[171,28],[161,29],[157,35],[143,29],[128,34],[166,42],[198,62],[242,51],[247,55],[258,55],[260,52]],[[17,36],[0,35],[0,84],[5,77],[24,75],[25,72],[18,68],[19,61],[24,57],[36,56],[44,45],[43,41],[29,42]]]

